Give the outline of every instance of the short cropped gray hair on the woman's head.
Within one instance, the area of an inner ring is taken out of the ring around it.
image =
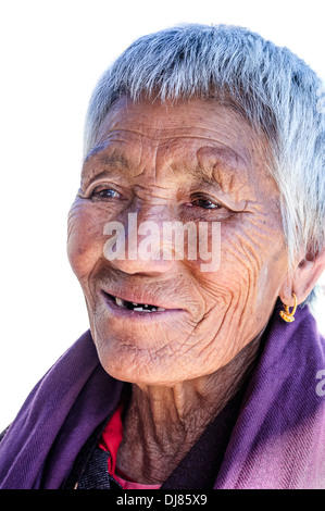
[[[122,96],[162,102],[215,98],[240,111],[270,144],[289,262],[324,247],[325,115],[322,83],[287,48],[235,26],[180,25],[133,42],[100,78],[85,125],[85,155]]]

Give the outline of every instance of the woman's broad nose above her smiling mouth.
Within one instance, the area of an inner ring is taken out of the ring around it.
[[[173,247],[163,236],[161,220],[139,222],[137,213],[128,213],[126,225],[109,222],[104,235],[112,235],[104,244],[103,253],[110,263],[129,274],[162,274],[175,264]]]

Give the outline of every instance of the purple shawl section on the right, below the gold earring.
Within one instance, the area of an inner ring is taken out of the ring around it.
[[[324,338],[308,308],[278,311],[249,383],[215,488],[325,488]]]

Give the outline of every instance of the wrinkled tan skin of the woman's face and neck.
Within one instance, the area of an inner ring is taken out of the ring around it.
[[[234,395],[287,278],[265,148],[238,113],[215,102],[123,98],[84,163],[68,256],[103,367],[135,384],[117,462],[129,473],[129,457],[137,460],[136,481],[163,481]],[[220,269],[202,272],[200,260],[187,259],[107,260],[104,225],[126,226],[130,212],[138,223],[221,222]],[[102,290],[172,310],[120,314]]]

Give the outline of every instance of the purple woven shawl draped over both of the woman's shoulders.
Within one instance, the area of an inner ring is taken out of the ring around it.
[[[276,310],[222,462],[216,489],[325,488],[324,339],[308,308]],[[117,404],[89,332],[33,389],[0,444],[0,488],[57,489]]]

